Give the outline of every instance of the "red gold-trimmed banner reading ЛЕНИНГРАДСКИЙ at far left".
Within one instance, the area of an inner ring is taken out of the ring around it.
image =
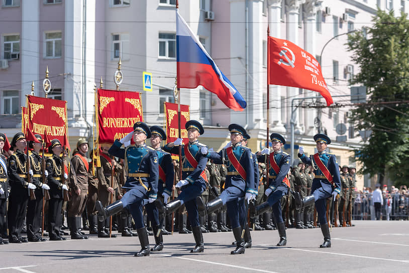
[[[67,102],[65,100],[27,97],[28,125],[34,134],[44,133],[50,140],[57,139],[61,144],[67,137]]]

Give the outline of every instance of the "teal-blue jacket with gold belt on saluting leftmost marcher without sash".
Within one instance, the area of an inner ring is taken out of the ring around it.
[[[128,146],[126,149],[121,148],[122,144],[115,140],[108,153],[125,159],[125,169],[127,170],[127,181],[123,188],[132,189],[140,185],[138,177],[130,177],[130,174],[144,173],[149,177],[140,177],[142,183],[148,188],[149,198],[156,199],[158,193],[158,154],[146,144],[136,147],[135,145]]]

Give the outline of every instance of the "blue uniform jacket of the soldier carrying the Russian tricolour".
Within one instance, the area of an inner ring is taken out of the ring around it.
[[[201,183],[202,187],[206,188],[206,182],[200,176],[201,172],[205,170],[206,163],[208,162],[208,159],[206,158],[206,156],[200,153],[200,149],[203,147],[206,147],[206,145],[201,144],[198,141],[189,142],[188,144],[188,149],[189,149],[190,154],[192,154],[192,156],[197,161],[197,167],[193,169],[193,166],[190,165],[190,163],[187,161],[184,155],[184,145],[182,145],[182,165],[183,165],[182,179],[187,180],[191,184],[195,182]],[[167,145],[165,145],[163,147],[163,150],[171,154],[176,154],[176,155],[179,154],[179,146],[173,146],[172,148],[169,148]]]

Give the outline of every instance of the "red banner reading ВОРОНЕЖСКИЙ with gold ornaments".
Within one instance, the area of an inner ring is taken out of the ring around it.
[[[143,121],[141,93],[97,90],[98,141],[113,144],[134,130]]]

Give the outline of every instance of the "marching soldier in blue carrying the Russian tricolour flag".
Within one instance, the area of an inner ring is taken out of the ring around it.
[[[206,168],[208,159],[203,155],[200,150],[205,149],[207,153],[207,147],[197,141],[199,135],[203,134],[205,130],[203,126],[196,120],[189,120],[185,124],[187,130],[187,138],[189,144],[182,145],[182,139],[176,139],[173,143],[168,143],[163,147],[163,150],[172,154],[179,153],[179,147],[182,146],[182,180],[177,182],[176,188],[181,189],[181,193],[177,199],[169,202],[166,207],[166,214],[172,213],[177,210],[181,205],[185,205],[187,213],[189,215],[190,225],[192,226],[193,237],[196,242],[196,246],[190,250],[191,253],[203,252],[203,236],[201,234],[199,214],[197,210],[196,200],[201,201],[200,195],[206,189],[206,176],[203,175],[203,171]],[[196,165],[195,167],[193,165]],[[206,172],[204,173],[206,174]],[[203,176],[205,176],[203,178]],[[203,204],[200,204],[200,210],[203,209]]]

